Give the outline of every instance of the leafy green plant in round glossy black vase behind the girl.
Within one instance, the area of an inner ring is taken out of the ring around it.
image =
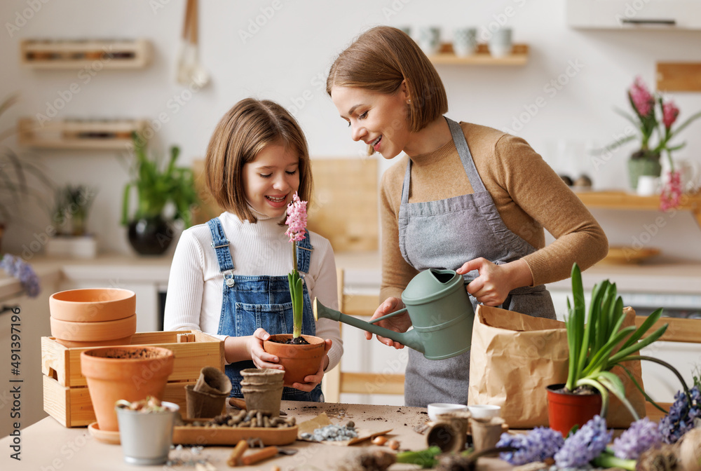
[[[172,223],[182,220],[191,226],[191,207],[198,203],[192,170],[175,165],[180,153],[177,146],[170,148],[168,162],[161,165],[157,158],[147,155],[147,142],[137,133],[132,134],[134,157],[132,180],[124,188],[121,224],[128,226],[129,242],[142,255],[163,254],[172,242]],[[130,214],[130,194],[137,193],[136,212]],[[175,214],[167,216],[168,204]]]

